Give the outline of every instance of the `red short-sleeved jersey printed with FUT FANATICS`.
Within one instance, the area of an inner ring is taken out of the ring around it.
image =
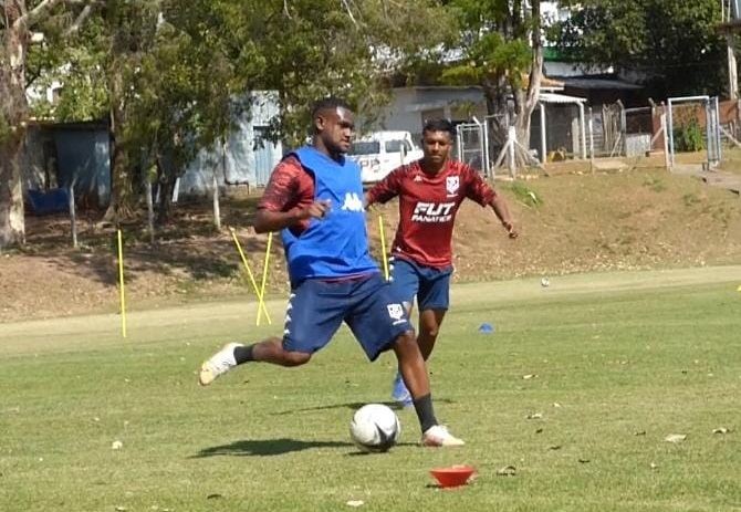
[[[368,203],[399,198],[399,224],[392,247],[395,257],[420,265],[452,265],[452,229],[458,208],[469,198],[490,205],[494,190],[481,175],[448,159],[440,173],[428,175],[421,160],[397,167],[367,192]]]

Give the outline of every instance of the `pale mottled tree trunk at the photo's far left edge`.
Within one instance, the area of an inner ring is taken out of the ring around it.
[[[25,243],[20,158],[25,137],[25,1],[3,4],[4,44],[0,48],[0,252]]]

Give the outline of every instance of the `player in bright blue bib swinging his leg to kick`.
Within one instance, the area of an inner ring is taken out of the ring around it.
[[[227,344],[203,362],[199,382],[208,386],[251,362],[309,363],[344,321],[372,362],[394,351],[422,445],[463,445],[435,417],[429,375],[407,312],[368,252],[361,169],[344,156],[353,138],[353,112],[328,97],[314,106],[312,124],[312,144],[275,167],[254,218],[257,232],[280,231],[283,240],[291,280],[283,337]]]

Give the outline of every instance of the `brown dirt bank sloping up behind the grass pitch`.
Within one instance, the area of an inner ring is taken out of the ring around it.
[[[662,170],[552,173],[495,186],[509,200],[521,237],[510,241],[490,209],[465,205],[456,227],[456,281],[741,263],[741,200],[698,178]],[[124,226],[128,306],[251,294],[227,228],[234,227],[259,283],[268,237],[249,228],[255,200],[225,197],[219,231],[211,201],[177,206],[154,243],[144,219]],[[377,217],[384,217],[390,243],[395,206],[369,213],[376,255]],[[76,250],[63,215],[29,217],[27,236],[22,251],[0,255],[0,322],[117,310],[116,232],[101,227],[97,213],[80,219]],[[279,237],[269,265],[268,292],[285,294]]]

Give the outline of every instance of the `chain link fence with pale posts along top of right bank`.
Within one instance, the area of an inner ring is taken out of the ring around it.
[[[530,154],[543,164],[572,158],[640,158],[665,150],[661,124],[661,115],[666,113],[664,105],[626,108],[618,101],[586,108],[574,104],[551,104],[545,106],[545,126],[542,124],[542,109],[535,108],[530,139],[518,142],[521,147],[530,148]],[[674,107],[679,119],[686,116],[697,119],[702,149],[708,150],[709,165],[720,160],[722,143],[741,147],[737,137],[739,111],[738,102],[719,103],[714,97],[699,106]],[[680,113],[683,117],[679,116]],[[509,164],[503,151],[509,144],[508,129],[513,119],[514,116],[508,113],[486,116],[482,122],[473,117],[457,124],[457,158],[487,177],[493,177],[498,170],[495,167]],[[707,126],[712,129],[708,130]],[[666,134],[669,139],[677,136],[677,125],[674,132],[671,128],[665,129],[669,130]],[[546,155],[540,154],[543,147],[546,148]]]

